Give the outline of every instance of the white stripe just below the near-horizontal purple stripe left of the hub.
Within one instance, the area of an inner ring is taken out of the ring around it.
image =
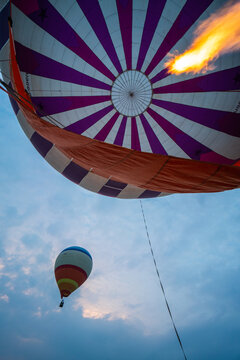
[[[85,106],[83,108],[64,111],[62,113],[53,114],[52,117],[58,121],[62,127],[74,124],[76,121],[82,120],[85,117],[94,114],[95,112],[104,109],[111,105],[111,101],[105,101],[100,104]],[[48,121],[47,117],[43,117],[44,120]]]

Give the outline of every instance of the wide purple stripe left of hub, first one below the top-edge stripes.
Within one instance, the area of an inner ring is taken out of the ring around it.
[[[111,86],[52,60],[15,41],[17,62],[21,71],[73,84],[110,90]]]

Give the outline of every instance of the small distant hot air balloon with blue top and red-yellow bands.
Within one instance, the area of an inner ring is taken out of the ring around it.
[[[79,246],[64,249],[55,262],[55,278],[61,295],[60,307],[64,297],[68,297],[81,286],[92,271],[92,257],[89,252]]]

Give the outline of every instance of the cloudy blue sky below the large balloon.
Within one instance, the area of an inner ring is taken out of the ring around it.
[[[60,175],[0,92],[0,360],[183,359],[139,200]],[[188,359],[240,359],[240,192],[142,201]],[[78,245],[93,270],[62,309],[54,262]]]

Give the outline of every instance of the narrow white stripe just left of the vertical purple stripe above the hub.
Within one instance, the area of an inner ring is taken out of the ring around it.
[[[103,16],[105,18],[109,34],[111,36],[114,48],[123,71],[127,69],[125,54],[123,50],[123,42],[119,25],[118,11],[115,0],[100,0]],[[104,59],[105,61],[105,59]]]

